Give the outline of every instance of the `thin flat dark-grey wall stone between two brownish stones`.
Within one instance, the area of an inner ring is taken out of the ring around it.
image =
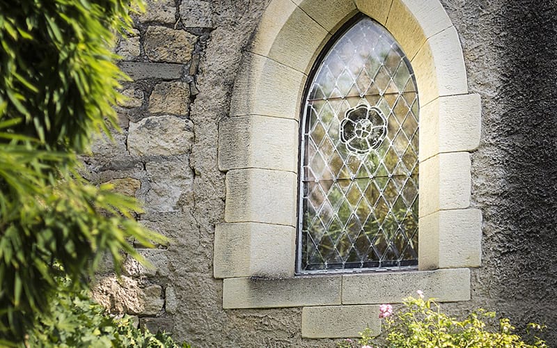
[[[118,67],[129,77],[141,79],[173,80],[182,77],[184,65],[171,63],[119,62]]]

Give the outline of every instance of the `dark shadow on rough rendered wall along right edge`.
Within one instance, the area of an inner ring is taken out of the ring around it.
[[[496,45],[502,62],[496,115],[485,123],[496,148],[484,229],[489,297],[513,322],[544,322],[557,344],[557,3],[503,1]],[[494,212],[489,214],[489,211]],[[495,276],[494,276],[495,275]],[[482,276],[484,277],[484,276]]]

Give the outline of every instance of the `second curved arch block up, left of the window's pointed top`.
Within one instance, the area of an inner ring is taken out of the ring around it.
[[[272,1],[248,50],[307,74],[330,36],[292,1]]]

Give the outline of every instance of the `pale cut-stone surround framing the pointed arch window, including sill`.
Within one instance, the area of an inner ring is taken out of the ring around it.
[[[419,270],[295,276],[302,93],[317,54],[358,12],[391,32],[416,74]],[[457,31],[438,0],[271,1],[219,124],[226,206],[215,230],[214,277],[223,278],[223,308],[303,307],[303,337],[340,338],[366,325],[379,333],[378,305],[418,289],[439,301],[469,300],[469,268],[481,263],[469,155],[480,118]]]

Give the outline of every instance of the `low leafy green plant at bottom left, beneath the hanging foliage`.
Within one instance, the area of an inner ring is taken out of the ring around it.
[[[61,284],[61,289],[64,289]],[[27,347],[189,347],[178,345],[167,333],[137,329],[130,317],[117,319],[88,298],[86,292],[61,291],[50,304],[52,315],[36,316]]]

